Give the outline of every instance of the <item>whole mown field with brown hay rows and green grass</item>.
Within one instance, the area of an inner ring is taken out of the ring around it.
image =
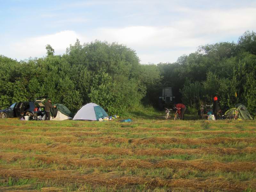
[[[0,191],[255,191],[255,121],[133,115],[0,119]]]

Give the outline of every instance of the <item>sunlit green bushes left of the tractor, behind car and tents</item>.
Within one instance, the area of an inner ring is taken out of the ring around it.
[[[141,65],[124,45],[77,40],[56,56],[50,45],[46,49],[46,57],[20,62],[0,56],[0,108],[48,95],[72,111],[95,102],[120,114],[138,107],[147,88],[161,79],[156,65]]]

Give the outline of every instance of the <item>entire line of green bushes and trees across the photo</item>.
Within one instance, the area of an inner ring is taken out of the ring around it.
[[[143,104],[157,104],[162,87],[172,87],[176,102],[191,111],[217,95],[225,110],[241,102],[256,111],[256,34],[245,32],[237,43],[200,46],[174,63],[141,65],[136,52],[122,44],[95,42],[70,45],[63,55],[18,62],[0,56],[0,108],[48,95],[76,111],[95,102],[110,114]],[[237,95],[237,96],[236,96]]]

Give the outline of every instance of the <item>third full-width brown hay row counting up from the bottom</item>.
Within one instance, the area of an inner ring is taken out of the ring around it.
[[[158,149],[158,148],[145,148],[145,149],[127,149],[127,148],[110,148],[110,147],[71,147],[63,143],[53,143],[46,145],[39,144],[13,144],[13,143],[0,143],[0,148],[11,148],[21,150],[39,150],[43,152],[61,152],[66,154],[112,154],[112,155],[147,155],[147,156],[168,156],[172,154],[242,154],[242,153],[255,153],[256,147],[246,147],[244,149],[238,148],[218,148],[218,147],[202,147],[196,149]]]

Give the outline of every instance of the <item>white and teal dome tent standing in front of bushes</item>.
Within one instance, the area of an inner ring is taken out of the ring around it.
[[[97,121],[99,118],[108,117],[106,111],[95,103],[83,105],[74,116],[73,120],[92,120]]]

